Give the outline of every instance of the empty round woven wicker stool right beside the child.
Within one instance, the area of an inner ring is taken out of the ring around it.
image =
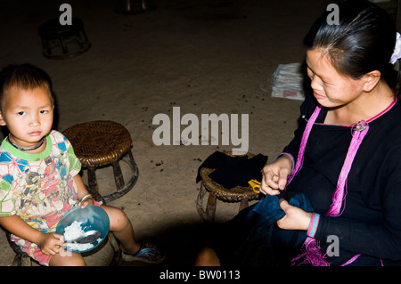
[[[98,120],[71,126],[63,134],[70,140],[82,169],[86,170],[88,188],[91,190],[99,191],[95,170],[112,166],[117,191],[103,196],[105,201],[118,199],[134,187],[139,171],[131,151],[131,135],[124,126],[113,121]],[[125,161],[131,170],[127,184],[121,172],[120,160]]]

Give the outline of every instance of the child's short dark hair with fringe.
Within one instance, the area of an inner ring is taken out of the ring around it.
[[[4,93],[14,86],[24,90],[36,87],[48,88],[54,104],[52,80],[43,69],[32,64],[9,65],[0,71],[0,108]]]

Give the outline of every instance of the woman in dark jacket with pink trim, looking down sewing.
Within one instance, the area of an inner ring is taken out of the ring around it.
[[[263,169],[260,191],[266,199],[280,194],[283,216],[272,235],[259,227],[228,252],[203,249],[197,264],[401,264],[401,107],[393,65],[401,41],[374,4],[346,1],[339,12],[338,25],[325,12],[305,38],[313,96],[300,107],[294,139]],[[299,194],[312,212],[290,204]],[[280,236],[292,237],[282,234],[288,231],[305,239],[286,247]]]

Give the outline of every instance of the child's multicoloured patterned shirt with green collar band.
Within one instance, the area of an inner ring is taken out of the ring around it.
[[[2,142],[0,217],[18,215],[34,229],[53,232],[62,215],[78,205],[73,176],[81,164],[61,133],[52,131],[45,142],[45,150],[37,154],[14,148],[6,138]],[[16,236],[12,240],[24,250],[37,247]]]

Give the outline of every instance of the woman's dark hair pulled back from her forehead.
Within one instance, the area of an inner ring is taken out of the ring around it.
[[[319,49],[340,73],[359,79],[379,70],[399,95],[399,71],[390,63],[396,45],[396,26],[389,14],[364,0],[339,5],[339,22],[329,24],[324,12],[304,39],[308,49]]]

